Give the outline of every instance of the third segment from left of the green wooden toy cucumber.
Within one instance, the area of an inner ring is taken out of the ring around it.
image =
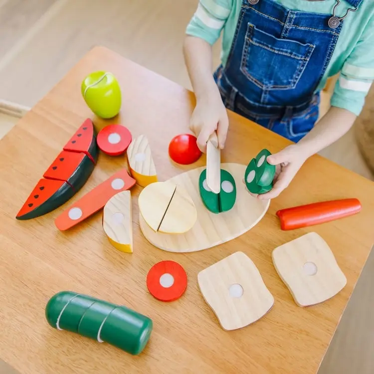
[[[87,338],[97,339],[98,331],[105,317],[115,308],[115,305],[104,301],[92,304],[80,320],[78,334]]]

